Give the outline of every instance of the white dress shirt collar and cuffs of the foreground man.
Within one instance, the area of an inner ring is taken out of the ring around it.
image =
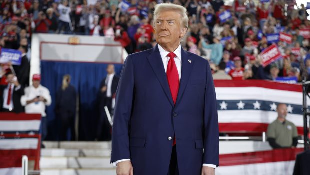
[[[159,44],[158,45],[158,49],[159,49],[159,52],[160,52],[160,56],[161,56],[161,59],[162,59],[162,63],[163,63],[163,66],[164,66],[164,70],[165,72],[167,72],[167,66],[168,66],[168,62],[170,60],[170,57],[168,57],[168,54],[170,53],[169,51],[166,51],[164,50]],[[177,71],[178,71],[178,75],[179,75],[179,78],[181,79],[181,72],[182,72],[182,54],[181,54],[181,44],[175,49],[175,51],[173,51],[173,53],[176,55],[174,57],[174,62],[175,62],[175,65],[176,65],[176,68],[177,68]],[[118,160],[116,161],[115,163],[113,163],[114,166],[117,165],[117,163],[119,162],[122,162],[122,161],[130,161],[130,159],[121,159],[121,160]],[[216,165],[214,164],[203,164],[203,166],[208,166],[208,167],[212,167],[212,168],[216,168]]]

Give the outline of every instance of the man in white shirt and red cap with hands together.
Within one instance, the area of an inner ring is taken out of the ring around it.
[[[42,115],[40,132],[42,141],[47,135],[47,117],[45,113],[46,106],[51,104],[51,96],[49,90],[40,84],[41,75],[34,74],[32,76],[32,85],[24,89],[24,95],[20,102],[25,106],[25,113],[39,113]]]

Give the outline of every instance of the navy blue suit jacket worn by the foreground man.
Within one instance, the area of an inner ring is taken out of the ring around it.
[[[218,118],[208,61],[181,50],[174,105],[158,46],[127,57],[116,91],[111,162],[131,159],[135,175],[167,174],[176,136],[180,175],[218,165]],[[204,152],[203,152],[204,149]]]

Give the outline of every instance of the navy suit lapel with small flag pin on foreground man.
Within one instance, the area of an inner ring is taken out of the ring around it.
[[[179,101],[182,98],[182,95],[184,93],[184,90],[187,86],[188,79],[191,74],[192,66],[194,64],[194,60],[190,59],[189,55],[184,51],[184,49],[181,49],[182,54],[182,74],[181,74],[181,82],[180,87],[178,90],[177,98],[176,98],[176,105],[179,103]]]

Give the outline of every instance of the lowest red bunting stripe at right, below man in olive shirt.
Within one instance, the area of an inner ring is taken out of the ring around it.
[[[246,152],[219,155],[219,166],[292,161],[303,148],[274,149],[259,152]]]

